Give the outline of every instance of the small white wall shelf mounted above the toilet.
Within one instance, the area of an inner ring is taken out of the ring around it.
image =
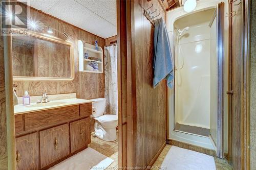
[[[84,54],[88,53],[89,57],[98,58],[100,61],[85,59]],[[79,56],[79,71],[80,72],[91,72],[91,73],[102,73],[103,72],[103,50],[99,46],[99,50],[95,50],[95,45],[89,43],[83,43],[81,40],[78,40],[78,56]],[[89,62],[95,62],[98,64],[99,69],[87,69],[87,64]]]

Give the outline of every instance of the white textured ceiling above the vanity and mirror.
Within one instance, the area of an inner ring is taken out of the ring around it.
[[[116,0],[30,0],[29,3],[102,38],[117,34]]]

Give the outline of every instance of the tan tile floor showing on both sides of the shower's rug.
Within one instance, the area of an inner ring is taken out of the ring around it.
[[[170,150],[170,147],[172,147],[172,145],[166,144],[163,151],[161,152],[161,154],[158,156],[157,160],[153,164],[152,166],[153,169],[159,169],[165,156]],[[231,166],[224,159],[215,158],[215,164],[216,164],[216,170],[232,170]]]

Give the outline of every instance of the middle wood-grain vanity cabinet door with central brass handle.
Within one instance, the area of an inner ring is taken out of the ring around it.
[[[69,155],[69,125],[64,124],[39,132],[41,168]]]

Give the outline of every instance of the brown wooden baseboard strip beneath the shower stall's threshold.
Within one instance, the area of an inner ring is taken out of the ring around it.
[[[206,148],[198,147],[193,144],[189,144],[189,143],[185,143],[185,142],[181,142],[181,141],[173,140],[173,139],[167,139],[166,142],[167,142],[167,144],[174,145],[176,147],[180,147],[180,148],[184,148],[187,150],[196,151],[196,152],[200,152],[200,153],[203,153],[206,155],[216,157],[216,152],[214,150],[209,150]]]

